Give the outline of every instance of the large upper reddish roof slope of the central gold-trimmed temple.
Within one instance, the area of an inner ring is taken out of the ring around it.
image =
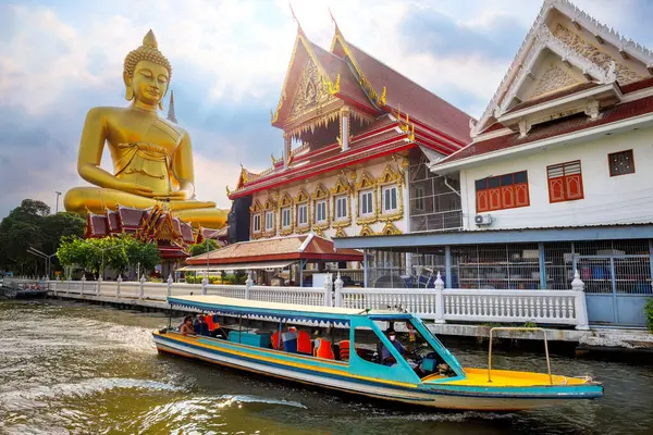
[[[386,88],[386,104],[408,113],[429,127],[452,138],[469,142],[469,120],[472,117],[390,66],[372,58],[353,44],[352,54],[377,92]]]

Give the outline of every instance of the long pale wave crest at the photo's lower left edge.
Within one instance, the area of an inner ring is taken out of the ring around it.
[[[0,409],[5,411],[23,411],[34,408],[46,408],[53,399],[78,398],[115,388],[136,388],[149,390],[176,391],[183,388],[157,381],[133,380],[123,377],[96,377],[78,383],[61,383],[42,385],[28,389],[14,389],[0,393]]]

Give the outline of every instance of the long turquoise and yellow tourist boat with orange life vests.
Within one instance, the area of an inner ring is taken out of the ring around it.
[[[168,301],[171,312],[176,307],[177,310],[274,323],[269,323],[272,331],[239,326],[222,331],[220,327],[222,338],[184,336],[169,324],[168,328],[153,333],[159,352],[282,380],[455,410],[517,411],[603,396],[603,386],[590,377],[552,375],[551,369],[549,374],[494,370],[491,361],[488,369],[463,368],[419,318],[406,312],[296,306],[219,296],[169,297]],[[333,345],[331,341],[335,340],[324,336],[311,340],[306,331],[286,330],[288,322],[299,330],[299,325],[311,322],[337,325],[330,328],[335,331],[332,334],[344,336]],[[403,357],[391,344],[383,331],[387,325],[409,331],[408,340],[415,338],[409,357]],[[375,352],[374,345],[370,349],[370,341],[377,341]],[[393,365],[379,361],[382,346],[394,358]],[[549,362],[547,355],[546,358]]]

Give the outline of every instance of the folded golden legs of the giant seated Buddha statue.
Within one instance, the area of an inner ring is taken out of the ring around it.
[[[215,209],[211,201],[198,201],[188,199],[183,201],[157,201],[125,191],[104,189],[101,187],[75,187],[70,189],[64,198],[63,204],[66,211],[85,214],[103,213],[107,209],[118,210],[119,206],[134,209],[149,209],[155,204],[165,203],[175,216],[184,222],[202,225],[210,228],[219,228],[226,222],[229,210]]]

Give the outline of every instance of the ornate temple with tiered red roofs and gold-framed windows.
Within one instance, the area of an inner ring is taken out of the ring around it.
[[[281,157],[262,172],[243,167],[227,187],[234,207],[247,204],[250,239],[461,226],[451,213],[460,209],[457,179],[433,183],[438,213],[412,221],[407,186],[428,161],[469,142],[470,116],[350,44],[337,25],[330,50],[298,26],[271,117],[283,130]]]

